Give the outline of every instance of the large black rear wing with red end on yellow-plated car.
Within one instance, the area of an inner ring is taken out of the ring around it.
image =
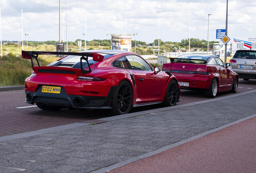
[[[88,62],[89,56],[93,57],[93,60],[97,61],[97,62],[101,62],[104,58],[104,55],[98,54],[96,52],[44,52],[44,51],[24,51],[24,50],[22,50],[22,52],[21,52],[22,58],[31,59],[32,68],[33,68],[33,58],[35,58],[35,60],[37,60],[37,64],[38,64],[38,66],[40,66],[38,59],[37,59],[39,54],[81,56],[80,67],[81,67],[81,72],[83,74],[91,72],[91,67],[89,66],[89,62]],[[108,53],[103,53],[103,54],[108,54]],[[82,60],[85,60],[87,62],[89,70],[83,69]]]

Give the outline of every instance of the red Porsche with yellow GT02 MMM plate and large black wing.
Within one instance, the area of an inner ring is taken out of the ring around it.
[[[66,56],[39,66],[40,54]],[[177,78],[132,52],[22,51],[22,57],[31,59],[33,68],[25,80],[25,102],[43,110],[107,109],[111,115],[120,115],[132,107],[171,106],[179,101]]]

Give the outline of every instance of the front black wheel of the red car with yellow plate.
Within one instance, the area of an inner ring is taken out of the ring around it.
[[[172,79],[167,86],[163,105],[166,107],[176,105],[179,94],[180,93],[179,93],[178,83],[176,80]]]

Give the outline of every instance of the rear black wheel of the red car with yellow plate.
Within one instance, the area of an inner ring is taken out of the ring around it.
[[[132,87],[128,81],[123,80],[118,84],[111,107],[109,115],[112,116],[130,112],[132,108]]]

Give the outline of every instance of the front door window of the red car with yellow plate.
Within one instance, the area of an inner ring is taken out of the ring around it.
[[[126,56],[130,65],[132,66],[132,70],[143,70],[143,71],[153,71],[151,66],[142,58],[135,55]]]

